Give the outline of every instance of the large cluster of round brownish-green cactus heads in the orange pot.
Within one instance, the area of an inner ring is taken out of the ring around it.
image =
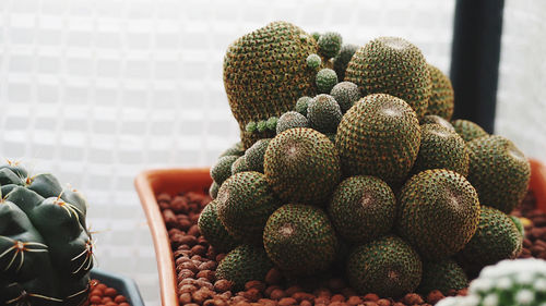
[[[361,294],[448,292],[521,252],[508,213],[527,160],[452,121],[451,82],[407,40],[357,47],[277,22],[229,47],[224,76],[244,133],[211,169],[199,227],[229,252],[218,276],[236,287],[266,267],[297,279],[335,265]]]

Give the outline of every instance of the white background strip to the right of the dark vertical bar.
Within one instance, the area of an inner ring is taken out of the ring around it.
[[[546,1],[505,5],[495,132],[546,162]]]

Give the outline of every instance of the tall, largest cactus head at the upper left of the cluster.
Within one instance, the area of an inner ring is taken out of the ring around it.
[[[275,135],[260,121],[280,117],[293,110],[299,97],[316,94],[317,72],[308,69],[306,60],[317,52],[317,41],[287,22],[270,23],[229,46],[224,86],[245,149]],[[256,130],[248,128],[251,121],[257,122]]]

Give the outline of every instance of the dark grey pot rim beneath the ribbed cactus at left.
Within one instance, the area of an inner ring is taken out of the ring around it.
[[[131,306],[144,306],[139,287],[132,279],[96,268],[91,270],[91,278],[116,289],[119,294],[122,294],[127,298]]]

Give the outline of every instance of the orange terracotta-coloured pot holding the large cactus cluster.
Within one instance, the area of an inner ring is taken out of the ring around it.
[[[155,245],[163,305],[177,306],[179,303],[173,252],[155,197],[161,193],[171,195],[181,192],[206,193],[212,184],[209,169],[150,170],[139,174],[134,184]],[[535,193],[538,208],[546,211],[546,167],[533,159],[531,159],[530,189]]]

